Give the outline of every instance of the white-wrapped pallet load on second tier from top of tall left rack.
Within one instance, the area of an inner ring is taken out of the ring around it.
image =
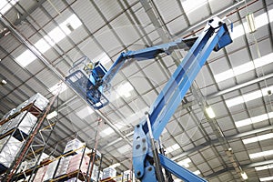
[[[29,135],[32,127],[35,126],[36,121],[37,117],[27,111],[24,111],[20,113],[20,115],[16,116],[13,120],[9,121],[10,125],[8,126],[8,130],[11,130],[17,126],[19,130],[24,132],[26,135]]]

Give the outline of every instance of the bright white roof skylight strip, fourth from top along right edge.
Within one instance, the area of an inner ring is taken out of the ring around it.
[[[248,125],[251,125],[251,124],[255,124],[255,123],[265,121],[265,120],[267,120],[269,118],[273,118],[273,112],[266,113],[266,114],[263,114],[263,115],[253,116],[253,117],[250,117],[250,118],[247,118],[247,119],[237,121],[237,122],[235,122],[235,125],[237,127],[248,126]]]

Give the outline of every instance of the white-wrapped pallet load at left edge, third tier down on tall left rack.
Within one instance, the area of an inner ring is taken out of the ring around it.
[[[0,140],[0,163],[5,167],[11,167],[17,153],[23,143],[13,136],[5,136]]]

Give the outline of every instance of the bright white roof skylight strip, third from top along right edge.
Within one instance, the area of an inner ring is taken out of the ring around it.
[[[261,90],[256,90],[248,94],[245,94],[243,96],[237,96],[234,98],[227,99],[225,102],[227,104],[227,107],[237,106],[244,102],[248,102],[248,101],[260,98],[262,96],[268,96],[268,90],[272,90],[272,89],[273,89],[273,86],[268,86],[268,87],[262,88]]]

